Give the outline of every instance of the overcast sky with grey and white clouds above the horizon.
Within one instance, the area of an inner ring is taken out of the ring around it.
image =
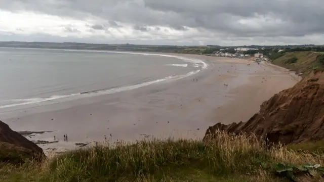
[[[324,44],[324,0],[0,0],[0,41]]]

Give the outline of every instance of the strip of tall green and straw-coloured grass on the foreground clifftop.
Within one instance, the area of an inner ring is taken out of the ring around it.
[[[254,136],[220,132],[211,142],[105,144],[70,151],[42,164],[0,164],[0,181],[289,181],[275,175],[278,162],[324,165],[324,156],[284,146],[267,148]],[[315,172],[301,181],[324,181],[320,175]]]

